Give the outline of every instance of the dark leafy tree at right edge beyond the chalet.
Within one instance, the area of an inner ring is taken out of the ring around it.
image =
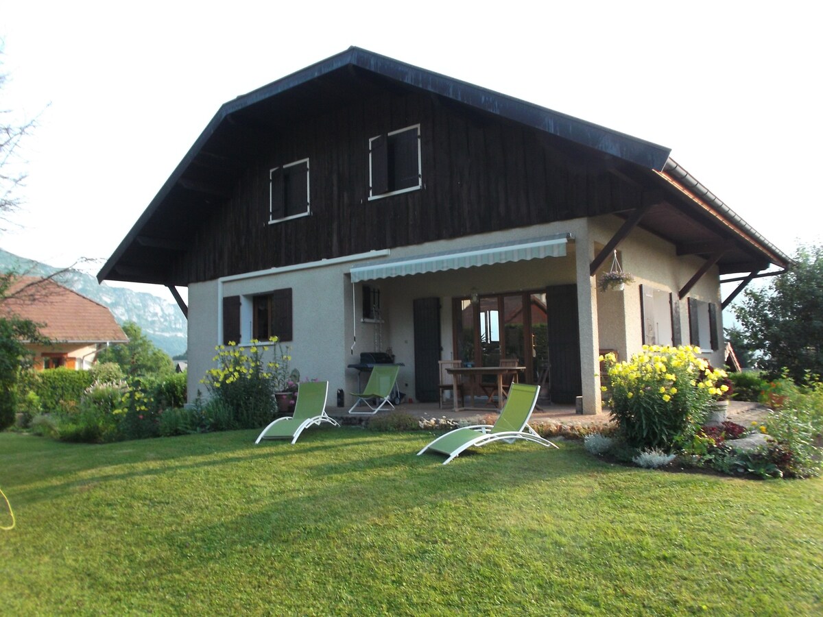
[[[795,263],[765,288],[746,290],[734,313],[747,345],[770,373],[823,374],[823,246],[801,246]]]

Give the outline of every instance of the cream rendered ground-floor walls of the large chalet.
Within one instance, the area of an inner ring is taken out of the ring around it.
[[[398,386],[414,397],[414,319],[412,300],[440,299],[441,358],[452,357],[453,297],[543,290],[551,285],[578,285],[581,376],[584,412],[600,410],[599,367],[601,349],[616,349],[621,358],[638,351],[642,345],[642,322],[639,285],[652,285],[677,293],[700,268],[699,257],[677,257],[675,248],[644,230],[633,231],[620,245],[621,263],[635,276],[635,283],[622,292],[597,290],[597,278],[588,276],[588,264],[602,245],[620,228],[616,216],[597,219],[567,220],[536,225],[495,234],[477,234],[460,239],[443,240],[412,247],[395,248],[372,256],[329,260],[310,267],[281,268],[255,273],[253,276],[226,277],[224,281],[207,281],[188,288],[188,392],[193,400],[199,383],[213,365],[215,346],[220,342],[222,297],[253,295],[291,287],[293,336],[291,366],[300,370],[301,378],[319,378],[329,382],[328,405],[336,404],[336,392],[356,392],[358,373],[346,368],[360,361],[365,351],[390,350],[402,367]],[[402,276],[368,281],[380,290],[382,323],[364,322],[361,318],[360,284],[351,285],[351,267],[385,258],[417,257],[446,251],[458,252],[484,244],[516,242],[555,234],[572,234],[566,244],[566,257],[546,257],[523,262],[472,267],[456,271],[435,272],[419,276]],[[604,268],[611,265],[607,259]],[[719,304],[717,268],[695,285],[690,296]],[[689,341],[689,314],[686,299],[681,300],[681,332]],[[721,312],[718,311],[718,341],[723,341]],[[723,365],[723,351],[706,354],[716,366]],[[591,377],[589,377],[591,376]],[[363,384],[365,385],[365,384]]]

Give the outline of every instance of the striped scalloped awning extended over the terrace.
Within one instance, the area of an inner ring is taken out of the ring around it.
[[[351,282],[374,281],[375,279],[412,274],[428,274],[430,272],[458,270],[459,268],[491,266],[495,263],[522,262],[544,257],[565,257],[566,243],[570,239],[571,234],[559,234],[544,238],[518,240],[506,244],[488,244],[459,251],[449,251],[448,253],[372,262],[351,268]]]

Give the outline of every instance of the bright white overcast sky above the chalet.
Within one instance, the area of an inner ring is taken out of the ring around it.
[[[96,275],[221,104],[356,45],[667,146],[791,256],[821,242],[821,11],[0,0],[0,109],[38,124],[0,248],[61,267],[96,260],[82,266]]]

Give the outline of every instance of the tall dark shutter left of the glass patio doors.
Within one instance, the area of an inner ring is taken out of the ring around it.
[[[414,315],[415,396],[420,402],[434,402],[440,395],[440,300],[418,298]]]

